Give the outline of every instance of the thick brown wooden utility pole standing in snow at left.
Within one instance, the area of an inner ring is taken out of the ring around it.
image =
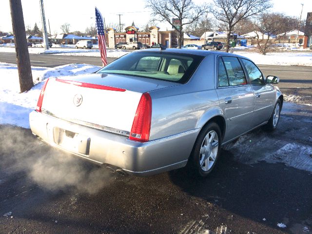
[[[16,61],[20,79],[20,92],[30,90],[34,86],[28,53],[23,9],[20,0],[10,0],[12,28],[16,51]]]

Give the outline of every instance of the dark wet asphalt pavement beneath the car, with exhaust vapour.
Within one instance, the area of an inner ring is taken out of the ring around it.
[[[183,169],[119,176],[29,129],[0,126],[0,233],[309,234],[312,169],[263,156],[289,144],[311,149],[311,118],[312,108],[286,105],[275,132],[256,129],[226,146],[201,180]]]

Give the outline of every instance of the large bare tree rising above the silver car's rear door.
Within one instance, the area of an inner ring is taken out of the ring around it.
[[[272,7],[271,0],[214,0],[211,13],[217,20],[225,23],[227,29],[226,51],[230,49],[231,33],[235,25]]]

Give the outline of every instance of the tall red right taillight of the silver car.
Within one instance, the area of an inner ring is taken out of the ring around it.
[[[142,94],[137,106],[137,113],[133,120],[129,139],[148,141],[150,138],[152,119],[152,98],[149,93]]]

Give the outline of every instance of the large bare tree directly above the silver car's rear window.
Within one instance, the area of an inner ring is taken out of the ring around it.
[[[208,10],[208,4],[195,5],[193,0],[146,0],[156,21],[168,22],[177,31],[178,47],[183,45],[183,28]],[[173,22],[173,18],[177,19]]]

